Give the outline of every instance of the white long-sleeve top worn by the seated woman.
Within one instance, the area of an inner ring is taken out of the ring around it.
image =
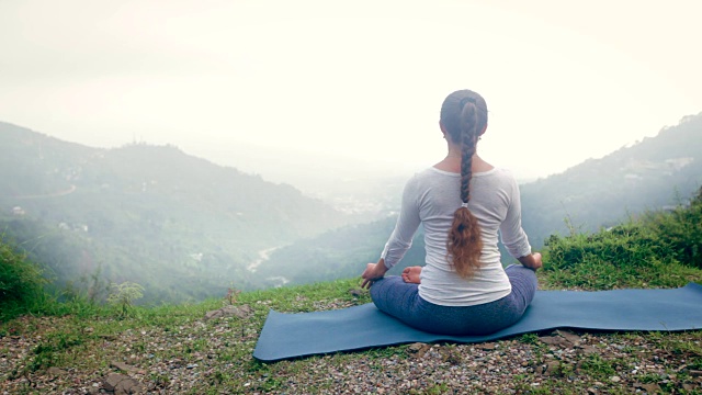
[[[512,174],[499,168],[473,173],[468,208],[478,219],[483,251],[480,269],[461,278],[446,260],[446,239],[454,212],[461,207],[461,174],[429,168],[415,174],[403,192],[395,230],[381,255],[386,268],[395,266],[411,246],[420,224],[424,228],[426,266],[419,295],[443,306],[471,306],[497,301],[511,292],[498,248],[498,230],[514,258],[531,253],[521,226],[519,187]]]

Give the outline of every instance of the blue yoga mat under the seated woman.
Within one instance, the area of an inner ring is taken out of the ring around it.
[[[261,361],[408,342],[482,342],[556,328],[679,331],[702,328],[702,285],[675,290],[537,291],[519,323],[488,336],[408,327],[372,303],[327,312],[271,311],[253,357]]]

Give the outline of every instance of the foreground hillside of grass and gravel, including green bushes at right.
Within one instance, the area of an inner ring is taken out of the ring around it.
[[[702,189],[689,207],[593,235],[552,237],[540,289],[702,282]],[[0,276],[0,280],[3,278]],[[0,323],[0,392],[149,394],[699,394],[702,331],[565,329],[487,343],[400,345],[262,363],[269,309],[369,303],[360,279],[238,293],[181,306],[47,301]],[[2,300],[0,298],[0,302]],[[4,307],[4,306],[3,306]],[[225,308],[226,307],[226,308]]]

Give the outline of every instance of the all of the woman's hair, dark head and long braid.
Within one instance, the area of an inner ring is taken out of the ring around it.
[[[446,259],[464,279],[480,268],[483,240],[477,218],[468,210],[473,155],[478,137],[487,127],[487,104],[478,93],[460,90],[451,93],[441,106],[441,124],[451,143],[461,147],[461,202],[453,214],[446,239]]]

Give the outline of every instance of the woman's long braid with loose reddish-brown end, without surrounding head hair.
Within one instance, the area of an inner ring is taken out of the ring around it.
[[[465,102],[465,103],[464,103]],[[471,278],[480,268],[483,240],[477,218],[471,213],[467,203],[471,201],[471,180],[473,179],[473,156],[475,155],[478,134],[482,132],[478,108],[475,99],[468,97],[460,102],[457,133],[451,134],[452,140],[461,143],[461,201],[463,205],[455,211],[453,224],[446,239],[451,262],[462,278]]]

